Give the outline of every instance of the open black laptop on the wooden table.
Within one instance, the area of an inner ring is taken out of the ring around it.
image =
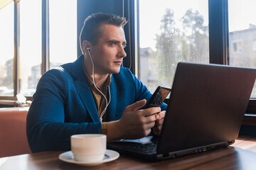
[[[255,78],[256,69],[180,62],[161,135],[107,148],[159,161],[228,147],[238,137]]]

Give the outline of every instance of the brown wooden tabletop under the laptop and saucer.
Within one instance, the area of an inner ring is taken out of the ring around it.
[[[79,166],[58,159],[63,152],[40,152],[0,158],[0,169],[256,169],[256,137],[241,136],[235,144],[223,149],[169,159],[144,162],[121,155],[117,160],[99,166]]]

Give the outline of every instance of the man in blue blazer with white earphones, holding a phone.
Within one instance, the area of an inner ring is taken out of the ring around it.
[[[95,13],[80,33],[82,54],[41,77],[27,116],[33,152],[70,149],[70,136],[103,133],[107,141],[161,132],[166,104],[142,108],[151,93],[127,68],[125,18]],[[146,99],[146,100],[145,100]]]

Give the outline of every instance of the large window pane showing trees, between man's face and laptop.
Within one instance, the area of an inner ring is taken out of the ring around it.
[[[171,86],[178,62],[209,63],[208,1],[139,1],[139,79]]]

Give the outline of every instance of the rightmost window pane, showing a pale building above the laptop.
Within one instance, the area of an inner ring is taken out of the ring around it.
[[[229,64],[256,68],[256,1],[229,0]],[[256,84],[251,97],[256,97]]]

